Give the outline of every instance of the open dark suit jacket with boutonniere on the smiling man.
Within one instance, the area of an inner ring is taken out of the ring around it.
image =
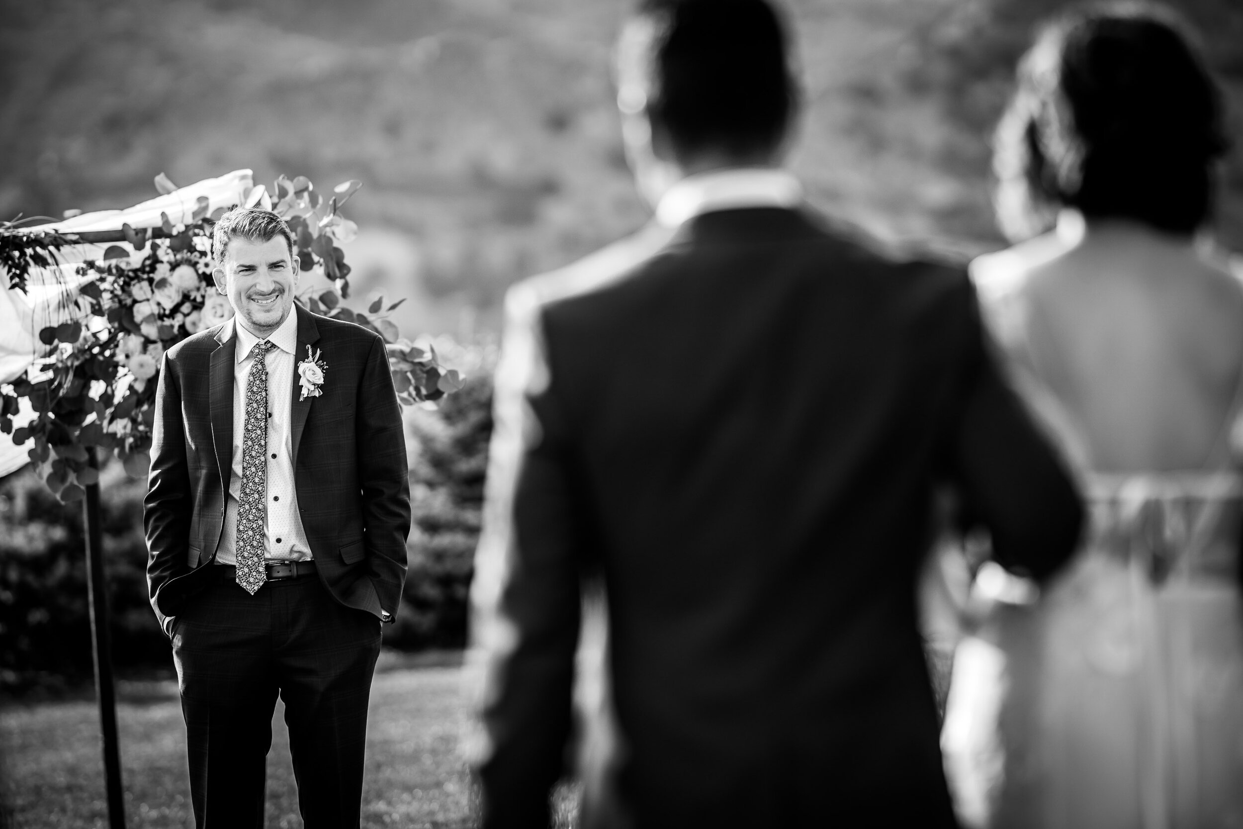
[[[291,430],[298,513],[319,578],[338,602],[397,614],[410,531],[401,413],[384,341],[295,305],[298,346],[328,364],[322,394],[298,400]],[[164,354],[155,393],[152,469],[144,502],[147,580],[165,630],[206,584],[224,528],[232,474],[234,321]],[[295,372],[297,369],[295,368]]]

